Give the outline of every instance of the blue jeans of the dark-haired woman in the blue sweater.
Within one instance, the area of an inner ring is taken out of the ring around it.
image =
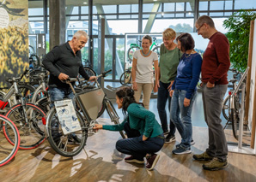
[[[181,146],[186,149],[190,148],[192,140],[192,106],[195,101],[197,92],[192,94],[190,105],[184,106],[184,99],[186,97],[186,91],[174,90],[171,103],[171,120],[174,122],[181,136]]]

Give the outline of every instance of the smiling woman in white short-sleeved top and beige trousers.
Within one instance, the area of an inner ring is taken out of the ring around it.
[[[153,63],[155,68],[154,92],[157,91],[156,83],[158,82],[158,56],[149,49],[151,44],[152,38],[149,35],[145,35],[142,39],[143,49],[134,52],[131,68],[132,88],[135,91],[134,97],[136,102],[139,103],[143,92],[145,109],[149,109],[150,96],[154,85]]]

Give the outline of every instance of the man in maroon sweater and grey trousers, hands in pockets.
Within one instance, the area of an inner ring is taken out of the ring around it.
[[[203,165],[204,169],[219,170],[228,166],[228,147],[220,115],[229,83],[229,40],[216,30],[207,15],[198,18],[196,28],[198,35],[210,39],[202,63],[204,119],[208,125],[209,146],[203,154],[193,155],[193,158],[210,161]]]

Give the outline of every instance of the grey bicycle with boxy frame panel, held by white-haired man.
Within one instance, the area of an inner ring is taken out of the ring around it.
[[[108,70],[107,72],[101,73],[101,75],[97,76],[97,79],[100,77],[106,77],[107,73],[111,71],[112,70]],[[55,102],[55,107],[53,107],[47,114],[47,138],[49,144],[52,146],[52,149],[61,156],[72,157],[80,153],[87,142],[88,130],[93,130],[94,124],[97,123],[96,118],[99,110],[102,107],[102,103],[104,107],[106,107],[107,113],[110,115],[111,120],[115,124],[119,124],[119,116],[113,108],[113,104],[107,99],[106,94],[102,90],[97,79],[95,80],[97,87],[94,89],[85,89],[79,93],[76,93],[74,87],[71,85],[71,82],[75,82],[76,78],[70,78],[65,81],[70,85],[70,88],[75,95],[74,99],[76,100],[76,104],[78,105],[79,109],[81,109],[81,113],[75,109],[76,118],[79,122],[79,126],[81,127],[79,128],[78,126],[79,129],[77,131],[72,131],[73,126],[70,126],[70,132],[67,132],[64,129],[62,125],[63,120],[58,116],[57,108],[63,107],[63,105],[61,105],[62,103]],[[62,102],[71,102],[69,100],[70,99],[64,99]],[[76,125],[76,123],[74,125]],[[67,125],[65,124],[65,126]],[[123,138],[125,138],[123,131],[121,131],[120,134]],[[78,140],[81,142],[77,143],[74,136],[76,136],[76,138],[78,138]]]

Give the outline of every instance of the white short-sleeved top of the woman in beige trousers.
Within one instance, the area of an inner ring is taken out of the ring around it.
[[[153,63],[158,60],[155,52],[151,51],[150,56],[144,57],[140,50],[134,52],[133,57],[137,59],[136,78],[137,83],[154,83]]]

